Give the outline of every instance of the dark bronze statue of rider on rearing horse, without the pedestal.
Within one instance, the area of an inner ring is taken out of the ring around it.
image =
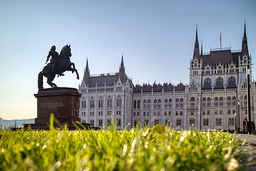
[[[78,71],[76,70],[75,64],[71,63],[71,48],[70,45],[66,45],[61,49],[60,55],[56,52],[56,46],[51,47],[51,51],[49,51],[46,63],[50,59],[50,63],[43,67],[43,70],[39,73],[39,81],[38,87],[39,90],[43,89],[43,76],[47,78],[47,83],[52,88],[57,87],[53,80],[56,76],[64,76],[65,71],[76,72],[76,78],[79,80]],[[73,66],[73,68],[71,68]]]

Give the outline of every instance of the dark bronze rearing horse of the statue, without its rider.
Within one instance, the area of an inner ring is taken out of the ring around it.
[[[63,76],[62,73],[65,71],[76,72],[76,78],[79,80],[78,71],[76,70],[75,64],[71,63],[71,48],[70,45],[66,45],[61,49],[61,53],[57,58],[58,65],[53,70],[53,63],[48,63],[47,66],[43,67],[43,70],[39,73],[38,87],[39,90],[43,89],[43,76],[47,78],[47,83],[52,88],[57,87],[53,80],[58,74],[59,76]],[[73,66],[73,68],[71,68]]]

